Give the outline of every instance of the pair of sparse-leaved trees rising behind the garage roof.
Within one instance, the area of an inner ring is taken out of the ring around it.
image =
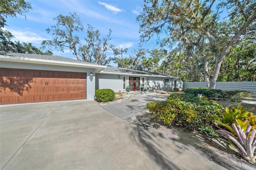
[[[78,60],[82,59],[101,65],[110,63],[112,58],[106,55],[106,51],[114,48],[114,45],[109,44],[112,30],[109,30],[109,34],[102,38],[100,31],[94,30],[94,27],[88,24],[84,36],[85,44],[81,44],[78,32],[84,33],[84,26],[76,13],[69,13],[67,16],[60,14],[54,18],[54,21],[56,25],[46,29],[48,34],[52,33],[54,37],[51,40],[44,40],[43,48],[50,46],[60,51],[68,48]]]

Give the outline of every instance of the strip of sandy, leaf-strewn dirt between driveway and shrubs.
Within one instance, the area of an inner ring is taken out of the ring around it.
[[[151,133],[190,150],[220,166],[232,170],[255,170],[256,166],[246,162],[238,151],[222,138],[211,138],[206,134],[188,132],[177,125],[166,126],[162,120],[151,121]]]

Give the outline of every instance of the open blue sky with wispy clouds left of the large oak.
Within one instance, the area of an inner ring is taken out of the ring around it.
[[[109,29],[110,43],[120,48],[128,48],[126,56],[132,54],[133,49],[140,43],[139,23],[136,17],[141,13],[142,0],[30,0],[32,10],[25,16],[7,18],[6,29],[21,42],[31,42],[40,47],[42,40],[49,40],[52,34],[47,34],[46,29],[54,26],[53,21],[59,14],[64,16],[69,12],[76,14],[86,30],[86,25],[92,25],[99,30],[102,38],[106,37]],[[84,40],[84,34],[80,34],[80,40]],[[157,47],[156,42],[147,42],[143,46],[146,49]],[[52,49],[54,55],[76,58],[68,49],[58,52]],[[110,54],[109,54],[110,55]],[[115,65],[113,65],[115,66]]]

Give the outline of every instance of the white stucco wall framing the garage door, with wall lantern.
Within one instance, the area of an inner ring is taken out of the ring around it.
[[[94,100],[95,69],[84,68],[84,67],[68,67],[68,66],[60,66],[60,65],[45,65],[45,64],[35,64],[35,63],[20,63],[20,62],[10,62],[10,61],[0,61],[0,67],[13,68],[13,69],[32,69],[32,70],[68,71],[68,72],[87,73],[86,99]],[[90,73],[94,75],[92,81],[90,81]]]

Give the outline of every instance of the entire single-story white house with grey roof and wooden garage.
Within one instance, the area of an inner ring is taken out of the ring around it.
[[[95,89],[182,89],[177,76],[54,55],[0,52],[0,104],[94,99]]]

